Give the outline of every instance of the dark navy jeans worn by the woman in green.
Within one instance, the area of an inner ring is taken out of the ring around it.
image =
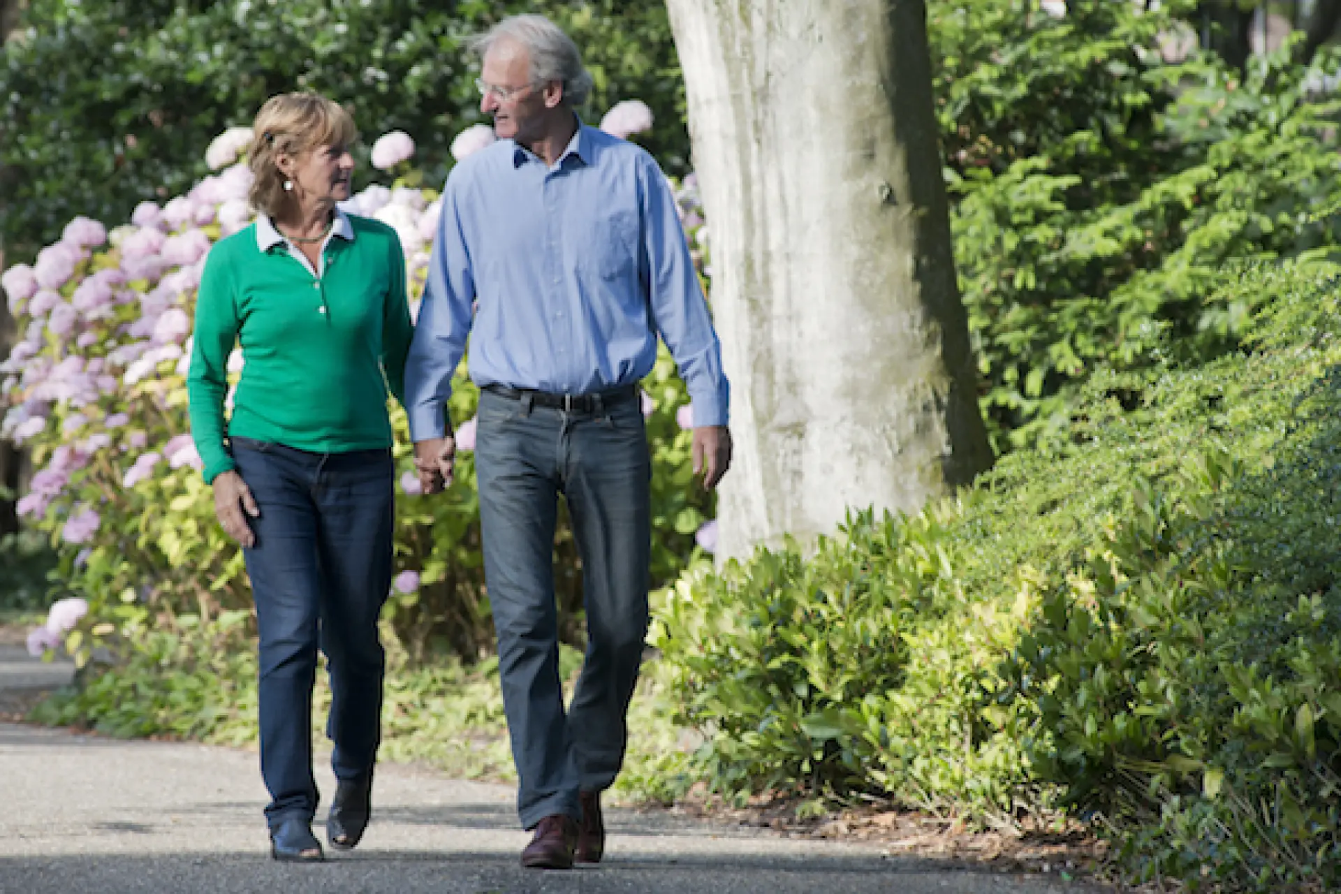
[[[388,450],[308,453],[232,438],[260,507],[245,550],[260,633],[260,772],[271,828],[316,812],[312,684],[330,670],[335,777],[373,772],[385,655],[377,617],[392,586],[393,464]]]

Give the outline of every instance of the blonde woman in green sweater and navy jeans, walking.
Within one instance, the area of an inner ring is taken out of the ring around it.
[[[389,227],[342,212],[354,125],[307,92],[271,98],[251,146],[256,222],[217,243],[196,306],[190,426],[215,509],[244,548],[260,634],[260,767],[271,852],[319,860],[311,705],[320,645],[339,783],[333,847],[367,824],[390,590],[388,383],[402,397],[412,324]],[[241,381],[224,418],[229,353]]]

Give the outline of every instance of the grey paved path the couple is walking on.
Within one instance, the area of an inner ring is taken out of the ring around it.
[[[0,649],[0,685],[68,669]],[[334,791],[327,767],[318,784]],[[0,724],[0,893],[1043,894],[1077,885],[884,858],[877,850],[609,811],[607,859],[518,866],[514,792],[382,765],[359,848],[319,866],[268,858],[253,753]],[[315,830],[325,838],[322,828]]]

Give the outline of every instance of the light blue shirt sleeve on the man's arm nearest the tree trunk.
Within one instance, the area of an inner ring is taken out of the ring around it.
[[[642,204],[638,269],[648,285],[653,324],[689,390],[695,426],[725,425],[731,385],[721,371],[721,344],[689,256],[675,196],[650,157],[638,180]]]

